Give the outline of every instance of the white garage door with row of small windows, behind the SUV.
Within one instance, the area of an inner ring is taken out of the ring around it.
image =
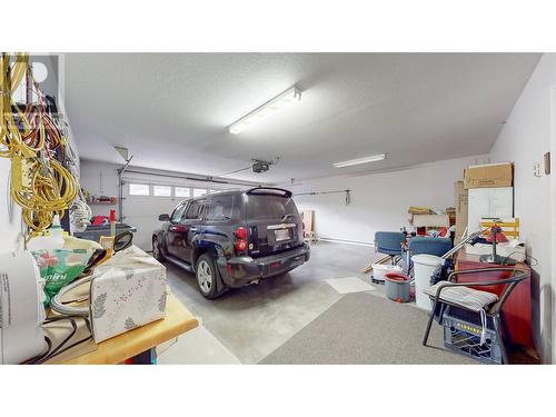
[[[137,228],[135,245],[151,250],[152,232],[160,227],[158,216],[170,214],[190,196],[197,197],[215,191],[199,186],[125,179],[123,221]]]

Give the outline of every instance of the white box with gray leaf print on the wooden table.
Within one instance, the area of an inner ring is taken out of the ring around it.
[[[95,269],[90,309],[96,342],[166,315],[166,267],[131,246]]]

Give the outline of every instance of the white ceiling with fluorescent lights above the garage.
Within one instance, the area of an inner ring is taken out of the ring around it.
[[[486,153],[538,53],[67,53],[66,107],[85,159],[280,182]],[[299,105],[227,127],[291,86]],[[337,169],[374,153],[385,161]]]

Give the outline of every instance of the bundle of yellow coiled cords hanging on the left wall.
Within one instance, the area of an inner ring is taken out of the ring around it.
[[[44,231],[54,215],[63,216],[79,192],[79,185],[56,151],[66,155],[67,139],[44,111],[44,98],[33,82],[39,103],[24,111],[12,96],[29,71],[28,56],[19,53],[11,62],[0,56],[0,157],[11,159],[11,197],[22,208],[31,235]]]

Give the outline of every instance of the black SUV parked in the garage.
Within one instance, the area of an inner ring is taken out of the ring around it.
[[[196,274],[199,291],[217,298],[309,260],[291,192],[279,188],[221,191],[160,215],[152,252]]]

